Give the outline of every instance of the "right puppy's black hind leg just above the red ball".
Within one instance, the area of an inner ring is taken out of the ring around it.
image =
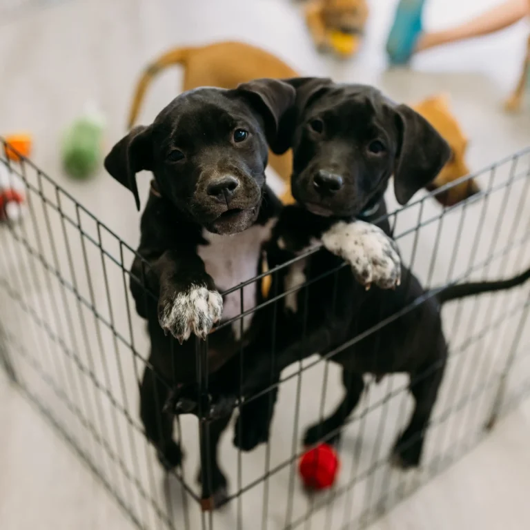
[[[304,436],[305,445],[315,445],[320,441],[333,445],[337,444],[340,440],[340,436],[342,435],[340,428],[359,403],[362,391],[364,390],[364,381],[362,375],[359,373],[343,370],[342,382],[344,389],[346,389],[344,400],[337,406],[337,409],[335,409],[335,412],[331,416],[328,416],[322,422],[316,423],[307,429],[306,435]]]

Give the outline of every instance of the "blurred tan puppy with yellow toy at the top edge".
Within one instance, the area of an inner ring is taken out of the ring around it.
[[[366,0],[313,0],[306,6],[306,23],[317,48],[340,57],[360,48],[367,18]]]

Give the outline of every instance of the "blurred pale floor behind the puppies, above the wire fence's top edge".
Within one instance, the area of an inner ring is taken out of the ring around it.
[[[451,27],[498,3],[429,0],[424,27]],[[515,115],[502,108],[520,76],[527,21],[489,37],[427,50],[413,57],[409,68],[389,70],[385,44],[396,2],[378,0],[369,6],[362,45],[355,56],[341,59],[317,51],[304,1],[3,0],[0,132],[30,133],[32,159],[122,234],[126,226],[115,225],[120,220],[113,216],[113,201],[124,199],[124,225],[134,212],[133,202],[124,194],[108,193],[119,185],[102,170],[88,181],[66,179],[62,135],[86,102],[94,101],[106,119],[108,150],[126,133],[141,72],[162,52],[178,46],[243,41],[272,52],[300,75],[375,84],[410,104],[449,94],[451,110],[469,139],[468,164],[475,170],[528,144],[528,108]],[[175,97],[181,79],[178,66],[161,72],[147,92],[138,123],[148,123]]]

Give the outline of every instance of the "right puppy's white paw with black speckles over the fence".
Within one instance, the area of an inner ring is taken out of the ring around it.
[[[322,244],[353,268],[360,284],[392,289],[400,284],[401,259],[395,241],[381,228],[364,221],[334,224],[322,236]]]

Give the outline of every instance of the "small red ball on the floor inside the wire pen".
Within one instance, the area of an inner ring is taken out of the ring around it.
[[[327,489],[333,486],[339,467],[335,449],[331,445],[320,444],[302,455],[298,471],[306,488]]]

